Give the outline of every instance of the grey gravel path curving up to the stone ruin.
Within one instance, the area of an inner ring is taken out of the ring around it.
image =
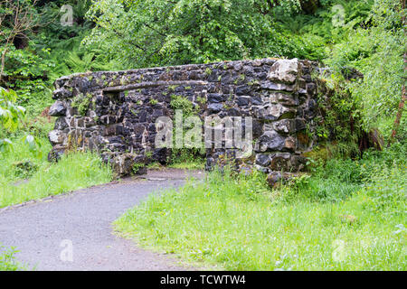
[[[186,175],[202,177],[204,173],[149,172],[144,180],[127,179],[0,209],[0,243],[16,247],[20,251],[17,260],[37,270],[188,269],[174,257],[143,250],[130,240],[118,238],[111,226],[148,194],[182,185]]]

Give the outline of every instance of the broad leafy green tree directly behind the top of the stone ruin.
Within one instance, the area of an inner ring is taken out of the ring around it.
[[[263,0],[103,0],[88,17],[97,24],[89,47],[109,42],[123,65],[147,67],[285,55],[287,41]],[[298,9],[281,2],[279,13]],[[118,54],[119,53],[119,54]]]

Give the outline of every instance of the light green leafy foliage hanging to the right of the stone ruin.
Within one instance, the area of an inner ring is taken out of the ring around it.
[[[398,0],[375,0],[367,19],[371,27],[352,26],[326,60],[336,71],[348,66],[364,74],[364,79],[346,83],[346,89],[357,104],[354,115],[360,114],[366,130],[394,117],[401,98],[404,13]],[[383,134],[390,135],[390,132]]]

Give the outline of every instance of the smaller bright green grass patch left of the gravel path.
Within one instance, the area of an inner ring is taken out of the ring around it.
[[[40,141],[47,152],[48,140]],[[46,155],[36,156],[19,141],[14,142],[13,151],[0,154],[0,163],[0,208],[110,182],[112,178],[111,169],[96,154],[72,153],[62,156],[58,163],[48,163]]]

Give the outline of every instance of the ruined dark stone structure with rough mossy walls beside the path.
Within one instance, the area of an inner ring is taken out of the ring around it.
[[[311,61],[263,59],[62,77],[50,108],[58,118],[49,158],[67,149],[96,150],[121,175],[166,163],[171,150],[154,145],[156,119],[174,117],[173,101],[183,98],[199,117],[252,117],[253,154],[233,164],[256,167],[278,182],[304,169],[302,154],[313,145],[319,88],[311,75],[318,72]],[[207,168],[235,153],[207,148]]]

